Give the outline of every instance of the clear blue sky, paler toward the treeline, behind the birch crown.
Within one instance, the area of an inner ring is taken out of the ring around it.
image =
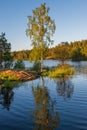
[[[0,34],[6,33],[12,51],[32,48],[26,36],[27,16],[43,3],[56,24],[53,46],[87,39],[87,0],[0,0]]]

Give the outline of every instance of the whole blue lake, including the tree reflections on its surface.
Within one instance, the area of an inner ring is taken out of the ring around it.
[[[87,62],[68,63],[76,69],[72,77],[0,87],[0,130],[87,130]]]

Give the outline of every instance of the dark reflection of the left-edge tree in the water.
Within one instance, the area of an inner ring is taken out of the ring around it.
[[[14,97],[13,87],[11,86],[0,87],[0,104],[3,106],[3,108],[10,110],[13,97]]]

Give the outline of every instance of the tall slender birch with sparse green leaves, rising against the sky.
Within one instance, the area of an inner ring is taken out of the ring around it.
[[[41,4],[40,7],[32,11],[33,16],[28,16],[28,28],[26,30],[27,36],[30,36],[32,41],[32,54],[31,59],[41,61],[41,71],[43,59],[46,55],[46,50],[53,40],[55,32],[55,22],[48,15],[49,7],[46,7],[46,4]]]

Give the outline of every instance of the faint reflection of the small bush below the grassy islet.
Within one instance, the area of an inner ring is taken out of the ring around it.
[[[71,98],[74,91],[74,86],[70,77],[55,79],[55,81],[57,84],[56,90],[58,95],[63,96],[64,99]]]

